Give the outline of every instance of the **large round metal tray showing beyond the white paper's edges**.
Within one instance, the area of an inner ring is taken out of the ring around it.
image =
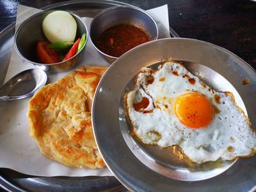
[[[81,17],[92,18],[102,9],[117,5],[130,4],[108,0],[80,0],[64,1],[48,7],[42,7],[42,9],[69,10]],[[15,23],[12,23],[0,33],[0,83],[4,82],[4,77],[8,69],[14,34]],[[178,37],[178,34],[170,28],[170,36]],[[37,177],[21,174],[11,169],[0,169],[0,185],[7,191],[127,191],[115,177]]]

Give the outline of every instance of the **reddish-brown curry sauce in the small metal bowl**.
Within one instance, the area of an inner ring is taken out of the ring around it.
[[[127,50],[148,41],[148,35],[140,28],[121,24],[110,27],[99,34],[97,47],[103,53],[119,57]]]

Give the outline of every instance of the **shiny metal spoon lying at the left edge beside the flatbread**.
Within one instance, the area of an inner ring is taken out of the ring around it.
[[[20,72],[0,87],[0,101],[24,99],[33,95],[47,81],[47,74],[41,69]]]

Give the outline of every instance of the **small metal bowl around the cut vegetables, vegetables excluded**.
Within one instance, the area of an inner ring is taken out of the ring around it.
[[[43,69],[48,72],[65,72],[72,69],[79,63],[83,56],[88,38],[86,38],[86,43],[83,45],[80,52],[76,53],[72,58],[55,64],[39,63],[37,58],[37,42],[39,40],[47,40],[42,31],[42,20],[44,20],[50,12],[54,11],[56,10],[42,11],[26,19],[18,27],[18,30],[15,33],[15,50],[21,58],[29,61],[31,64],[34,64],[39,69]],[[78,25],[75,39],[78,39],[84,33],[88,34],[86,24],[83,20],[72,12],[69,12],[69,14],[72,15]]]

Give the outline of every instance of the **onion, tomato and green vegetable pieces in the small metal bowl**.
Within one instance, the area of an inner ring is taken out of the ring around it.
[[[75,40],[77,23],[69,12],[55,11],[48,14],[42,21],[42,31],[48,39],[37,42],[37,58],[42,64],[67,61],[78,53],[86,42],[86,34]],[[71,48],[67,50],[69,47]]]

